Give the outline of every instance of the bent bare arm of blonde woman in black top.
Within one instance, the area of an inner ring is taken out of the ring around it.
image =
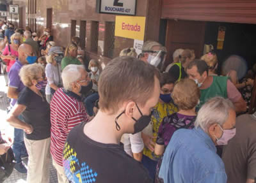
[[[23,129],[24,131],[26,131],[26,133],[32,133],[33,128],[27,124],[26,122],[21,121],[18,116],[24,112],[24,110],[26,109],[26,106],[24,105],[15,105],[11,112],[8,114],[8,117],[6,119],[7,122],[10,123],[11,126],[13,126],[14,128],[19,128],[19,129]]]

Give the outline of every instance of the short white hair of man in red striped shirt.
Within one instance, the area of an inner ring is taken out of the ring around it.
[[[81,71],[85,71],[83,65],[69,64],[64,68],[61,73],[61,78],[63,80],[63,87],[66,90],[72,91],[71,84],[81,78]]]

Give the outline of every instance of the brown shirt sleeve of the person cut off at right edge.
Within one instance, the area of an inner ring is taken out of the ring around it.
[[[255,179],[256,177],[256,143],[252,143],[252,147],[249,149],[249,157],[248,157],[247,165],[248,165],[247,179]]]

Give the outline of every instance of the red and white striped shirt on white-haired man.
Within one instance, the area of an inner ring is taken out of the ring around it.
[[[74,92],[58,89],[51,100],[51,154],[58,165],[63,166],[63,148],[68,133],[88,117],[81,97]]]

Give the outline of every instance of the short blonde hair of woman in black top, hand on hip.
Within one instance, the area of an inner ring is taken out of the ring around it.
[[[44,67],[40,64],[28,64],[20,69],[20,80],[26,87],[31,87],[32,80],[38,80],[38,74],[44,73]]]

